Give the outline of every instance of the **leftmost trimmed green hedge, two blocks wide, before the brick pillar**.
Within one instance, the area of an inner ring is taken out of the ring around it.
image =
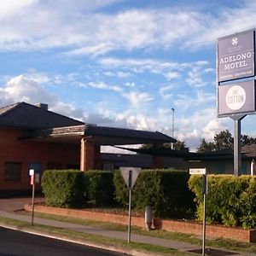
[[[112,206],[113,173],[49,170],[42,177],[46,205],[52,207]]]

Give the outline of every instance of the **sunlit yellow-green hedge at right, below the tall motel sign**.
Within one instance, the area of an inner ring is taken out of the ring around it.
[[[197,218],[202,220],[203,195],[201,176],[189,178],[189,189],[195,193]],[[209,175],[207,223],[256,228],[256,177]]]

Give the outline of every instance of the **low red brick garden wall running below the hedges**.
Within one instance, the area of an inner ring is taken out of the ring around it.
[[[32,211],[31,205],[24,205],[26,211]],[[90,220],[108,221],[116,224],[128,224],[128,216],[105,212],[92,212],[86,210],[73,210],[58,207],[45,207],[35,205],[35,212],[52,213],[73,218],[84,218]],[[145,220],[141,217],[131,217],[131,225],[146,228]],[[202,225],[190,221],[176,221],[154,218],[153,226],[171,232],[180,232],[201,236]],[[235,241],[253,242],[256,241],[256,230],[243,230],[238,228],[224,227],[221,225],[207,225],[207,237],[210,238],[229,238]]]

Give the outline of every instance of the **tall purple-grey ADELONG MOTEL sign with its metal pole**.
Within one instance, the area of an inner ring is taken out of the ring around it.
[[[241,170],[241,119],[256,111],[255,31],[218,38],[216,55],[218,117],[234,120],[234,174],[238,177]]]

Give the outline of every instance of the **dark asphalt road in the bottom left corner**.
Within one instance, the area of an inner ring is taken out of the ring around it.
[[[0,227],[0,256],[124,256],[127,254],[103,251],[67,241],[35,236]]]

